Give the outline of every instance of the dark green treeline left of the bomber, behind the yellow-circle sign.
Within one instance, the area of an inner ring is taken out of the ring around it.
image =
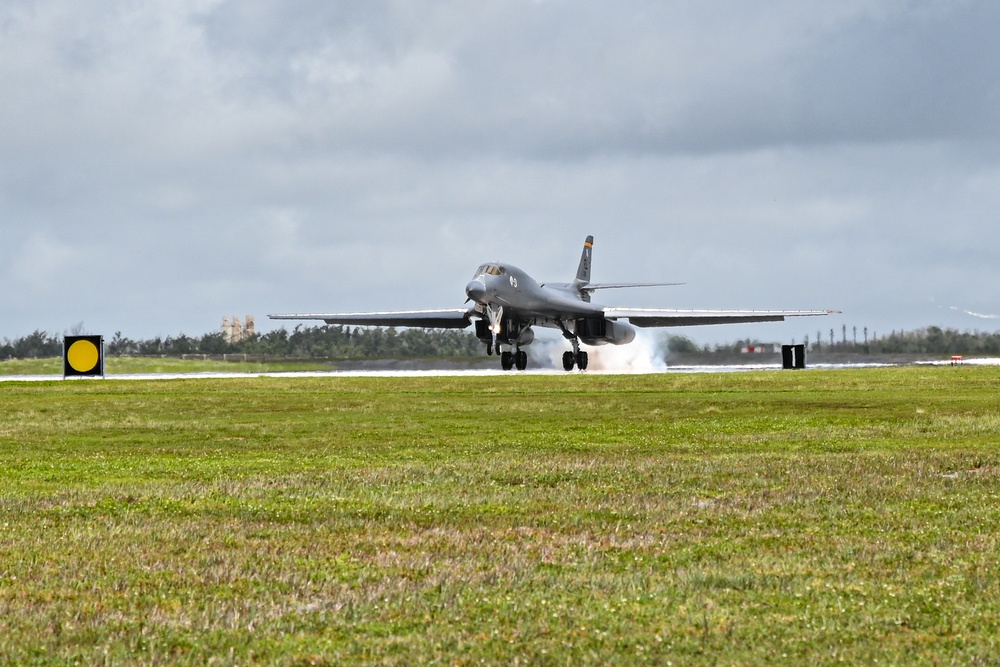
[[[0,359],[58,357],[62,345],[62,336],[35,331],[17,340],[4,339]],[[133,340],[117,331],[110,340],[104,340],[104,350],[116,357],[248,354],[309,359],[405,359],[470,357],[482,353],[482,344],[466,331],[300,325],[291,332],[281,328],[239,342],[227,341],[222,333]]]

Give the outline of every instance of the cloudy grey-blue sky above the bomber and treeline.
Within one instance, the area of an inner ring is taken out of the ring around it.
[[[484,261],[676,329],[1000,330],[992,0],[6,0],[0,339],[453,308]],[[311,325],[314,323],[306,322]]]

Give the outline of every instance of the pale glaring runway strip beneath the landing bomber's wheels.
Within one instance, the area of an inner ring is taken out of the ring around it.
[[[852,368],[883,368],[898,364],[811,364],[805,369],[812,370],[849,370]],[[918,366],[950,366],[950,361],[931,360],[917,362]],[[1000,358],[965,359],[960,366],[1000,366]],[[347,378],[347,377],[474,377],[474,376],[517,376],[517,375],[656,375],[669,373],[743,373],[748,371],[781,370],[781,364],[738,364],[731,366],[663,366],[660,368],[637,370],[587,370],[570,371],[552,368],[529,369],[526,371],[503,371],[499,368],[480,370],[350,370],[350,371],[303,371],[274,373],[124,373],[108,375],[107,380],[196,380],[248,378],[248,377],[283,377],[283,378]],[[62,380],[61,375],[0,375],[0,382],[51,382]],[[70,381],[94,378],[68,378]],[[97,378],[98,380],[101,378]]]

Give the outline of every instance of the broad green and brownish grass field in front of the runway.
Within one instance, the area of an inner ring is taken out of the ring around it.
[[[1000,374],[0,383],[0,663],[996,664]]]

